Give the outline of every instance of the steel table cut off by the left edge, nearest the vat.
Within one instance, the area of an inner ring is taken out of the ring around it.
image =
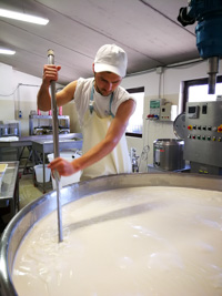
[[[8,164],[2,177],[0,192],[0,210],[1,212],[10,207],[9,220],[19,211],[19,162],[0,162]]]

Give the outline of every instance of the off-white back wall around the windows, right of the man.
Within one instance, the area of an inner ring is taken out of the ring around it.
[[[137,149],[137,154],[142,155],[140,164],[140,172],[147,172],[148,164],[153,163],[153,142],[157,139],[173,139],[173,123],[148,121],[150,100],[160,98],[167,99],[179,106],[179,114],[181,113],[181,82],[192,79],[206,78],[206,61],[194,63],[190,65],[180,65],[176,68],[164,68],[161,74],[155,70],[148,71],[147,73],[138,73],[137,75],[130,75],[124,78],[122,86],[125,89],[144,86],[144,112],[143,112],[143,137],[128,137],[128,145]],[[219,74],[222,74],[222,63],[220,63]],[[160,86],[160,88],[159,88]],[[145,160],[148,146],[150,152],[148,153],[148,160]]]

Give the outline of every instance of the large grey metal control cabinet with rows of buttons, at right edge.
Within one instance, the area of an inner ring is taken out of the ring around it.
[[[184,160],[222,167],[222,101],[186,104]]]

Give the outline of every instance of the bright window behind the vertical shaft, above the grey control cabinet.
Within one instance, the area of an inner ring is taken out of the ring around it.
[[[186,102],[215,101],[218,95],[222,95],[222,76],[218,76],[215,94],[209,94],[208,88],[208,79],[185,81],[183,90],[183,112],[185,112]]]

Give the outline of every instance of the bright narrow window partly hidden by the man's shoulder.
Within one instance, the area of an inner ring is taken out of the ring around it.
[[[137,109],[129,120],[125,134],[142,137],[144,88],[129,89],[127,91],[135,98]]]

